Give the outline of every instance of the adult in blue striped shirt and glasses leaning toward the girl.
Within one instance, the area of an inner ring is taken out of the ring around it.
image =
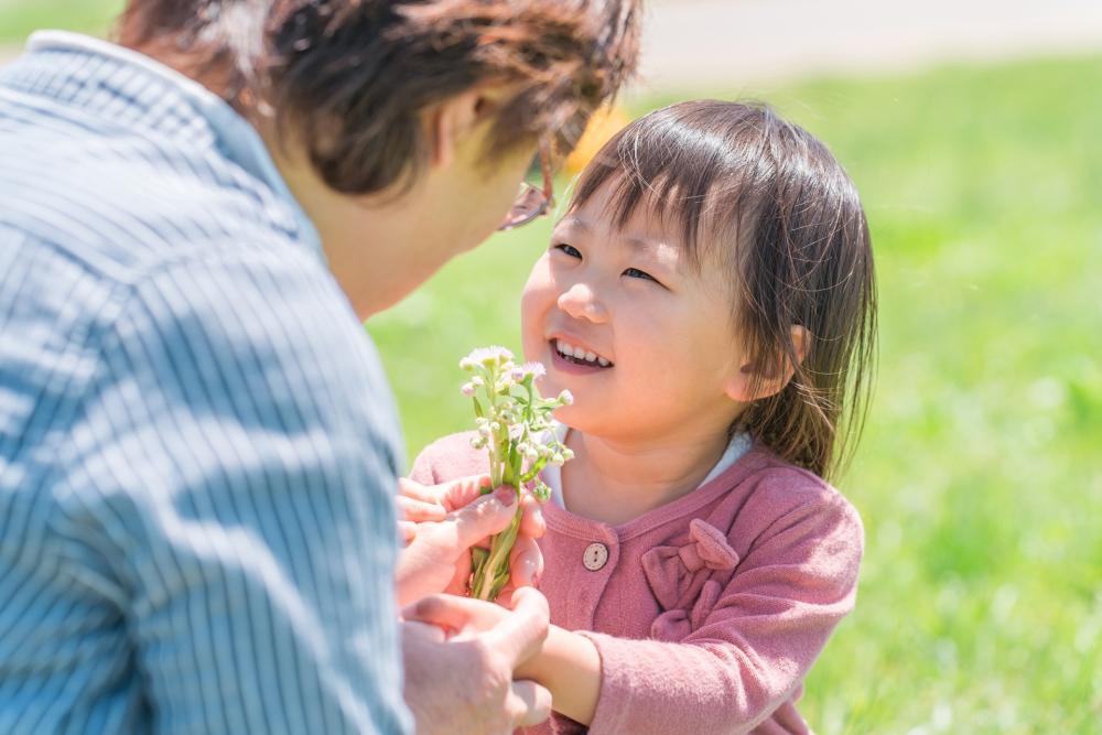
[[[42,35],[0,74],[0,729],[408,728],[400,435],[359,321],[569,148],[637,15],[132,0],[119,46]],[[510,685],[547,625],[520,599],[474,656],[411,638],[420,731],[545,709]]]

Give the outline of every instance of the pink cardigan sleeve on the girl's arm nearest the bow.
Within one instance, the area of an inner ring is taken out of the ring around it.
[[[700,626],[680,642],[582,633],[601,655],[591,735],[745,733],[790,699],[853,609],[863,532],[820,496],[755,541]],[[585,732],[558,718],[561,733]]]

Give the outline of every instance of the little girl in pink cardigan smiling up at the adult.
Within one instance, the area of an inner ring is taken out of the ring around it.
[[[582,173],[522,301],[569,389],[545,472],[551,634],[531,733],[807,733],[796,703],[854,604],[857,512],[829,478],[860,429],[875,287],[857,193],[769,109],[692,101]],[[486,472],[469,435],[424,484]]]

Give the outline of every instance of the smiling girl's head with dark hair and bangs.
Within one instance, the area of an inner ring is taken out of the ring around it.
[[[583,430],[744,428],[829,476],[864,417],[865,215],[830,151],[766,107],[683,102],[620,131],[576,183],[523,312],[526,350],[559,367],[549,380],[577,396],[562,415]],[[562,335],[596,367],[557,354]]]

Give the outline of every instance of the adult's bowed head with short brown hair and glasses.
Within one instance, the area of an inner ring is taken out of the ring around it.
[[[130,0],[120,43],[249,118],[360,317],[489,236],[635,68],[641,0]]]

